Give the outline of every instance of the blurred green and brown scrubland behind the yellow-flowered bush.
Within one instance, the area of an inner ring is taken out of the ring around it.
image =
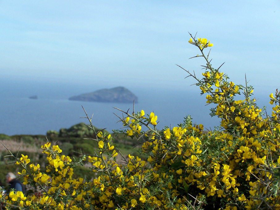
[[[94,127],[95,131],[101,131]],[[107,132],[103,130],[103,132]],[[114,136],[114,134],[112,134]],[[41,171],[45,172],[48,161],[45,160],[46,155],[41,152],[41,145],[48,140],[52,144],[57,144],[62,149],[62,154],[71,158],[79,158],[82,154],[94,155],[98,144],[92,140],[96,138],[96,134],[91,127],[84,123],[78,123],[70,128],[61,128],[60,131],[47,131],[46,135],[5,135],[0,134],[0,140],[5,144],[13,155],[28,155],[30,160],[41,166]],[[126,135],[116,137],[115,144],[121,148],[125,156],[129,154],[138,154],[140,146],[135,144],[135,139],[127,138]],[[0,144],[0,180],[5,183],[5,176],[8,172],[17,174],[21,169],[18,165],[10,164],[12,159],[7,149]],[[94,177],[95,173],[88,173],[89,169],[85,166],[77,166],[75,169],[78,177]]]

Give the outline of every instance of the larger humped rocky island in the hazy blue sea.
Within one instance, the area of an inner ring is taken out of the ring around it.
[[[111,89],[101,89],[95,92],[72,96],[69,100],[73,101],[95,101],[113,103],[138,103],[138,98],[127,88],[116,87]]]

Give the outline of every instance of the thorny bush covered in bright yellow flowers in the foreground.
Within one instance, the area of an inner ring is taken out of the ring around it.
[[[203,131],[190,116],[176,127],[157,128],[154,113],[121,111],[125,130],[116,131],[142,140],[142,156],[124,157],[106,132],[95,132],[98,149],[91,156],[71,160],[61,155],[57,145],[42,146],[49,165],[46,173],[28,156],[16,158],[23,167],[24,184],[39,186],[41,195],[11,192],[2,195],[6,208],[19,209],[280,209],[280,96],[270,94],[274,105],[271,116],[264,115],[252,98],[253,88],[236,85],[229,77],[214,69],[207,39],[191,35],[206,60],[202,79],[197,80],[211,115],[221,119],[214,131]],[[244,94],[244,100],[235,100]],[[146,127],[146,131],[142,130]],[[121,157],[122,161],[116,161]],[[75,177],[77,164],[90,162],[93,180]]]

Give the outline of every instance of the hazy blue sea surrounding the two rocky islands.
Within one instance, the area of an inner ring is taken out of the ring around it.
[[[190,83],[186,80],[186,83]],[[121,84],[120,84],[121,86]],[[125,86],[125,85],[122,85]],[[209,109],[213,105],[206,104],[206,95],[200,96],[198,87],[176,90],[174,88],[139,88],[131,85],[125,86],[138,96],[138,104],[135,111],[152,111],[158,116],[158,129],[164,126],[177,126],[184,121],[184,117],[191,115],[193,122],[203,124],[207,129],[218,126],[218,118],[210,117]],[[187,86],[188,87],[188,86]],[[193,87],[193,86],[192,86]],[[93,115],[93,125],[98,128],[112,129],[122,128],[117,121],[117,116],[122,113],[113,107],[128,110],[131,114],[132,104],[98,103],[84,101],[69,101],[70,96],[93,92],[100,88],[113,88],[110,84],[73,84],[57,83],[51,81],[22,81],[18,79],[0,79],[0,133],[6,135],[28,134],[45,135],[48,130],[59,131],[60,128],[69,128],[79,122],[88,123],[82,105],[89,116]],[[29,99],[37,95],[38,99]],[[255,95],[259,98],[258,105],[267,105],[270,111],[269,93]]]

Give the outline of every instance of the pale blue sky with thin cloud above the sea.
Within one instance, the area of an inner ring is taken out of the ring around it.
[[[265,94],[279,85],[280,1],[0,1],[2,79],[192,90],[214,44],[216,68]],[[94,91],[94,90],[92,90]]]

